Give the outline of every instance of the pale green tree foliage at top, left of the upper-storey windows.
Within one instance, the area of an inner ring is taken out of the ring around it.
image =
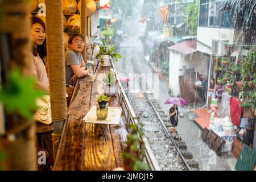
[[[196,35],[199,16],[199,0],[194,0],[186,9],[185,30],[189,35]]]

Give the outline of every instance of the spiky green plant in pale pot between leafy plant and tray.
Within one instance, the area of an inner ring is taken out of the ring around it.
[[[115,96],[115,73],[110,72],[108,74],[108,76],[105,76],[105,78],[103,79],[103,81],[105,82],[105,94],[107,96]]]

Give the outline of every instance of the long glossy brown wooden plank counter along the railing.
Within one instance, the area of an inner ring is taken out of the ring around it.
[[[121,122],[124,125],[82,121],[90,107],[96,105],[96,98],[104,94],[103,78],[109,71],[109,67],[100,67],[95,82],[91,82],[89,76],[77,82],[61,136],[55,170],[112,170],[123,166],[121,155],[127,134],[125,127],[122,127],[126,126],[123,113]],[[119,106],[117,96],[111,98],[109,106]]]

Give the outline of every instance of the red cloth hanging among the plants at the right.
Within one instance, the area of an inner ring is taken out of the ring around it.
[[[229,102],[230,107],[230,117],[233,125],[240,127],[241,123],[241,115],[242,115],[242,107],[240,106],[242,102],[238,100],[236,97],[231,97]]]

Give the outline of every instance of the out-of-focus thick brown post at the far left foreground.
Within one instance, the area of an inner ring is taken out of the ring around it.
[[[0,55],[1,78],[13,68],[27,69],[31,62],[31,22],[28,17],[30,3],[27,0],[3,1],[0,6]],[[0,150],[7,153],[6,170],[36,170],[35,122],[24,121],[18,114],[18,125],[6,131],[10,137],[0,137]],[[7,121],[9,122],[9,121]],[[24,123],[27,123],[26,126]],[[22,128],[18,130],[17,128]],[[5,131],[4,131],[5,132]],[[18,135],[19,134],[19,135]],[[2,147],[2,148],[1,148]]]

